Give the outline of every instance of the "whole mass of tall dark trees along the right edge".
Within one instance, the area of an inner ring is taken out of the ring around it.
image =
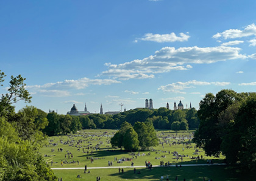
[[[256,169],[256,93],[224,89],[206,94],[197,112],[201,122],[194,142],[205,154],[223,154],[229,164]]]

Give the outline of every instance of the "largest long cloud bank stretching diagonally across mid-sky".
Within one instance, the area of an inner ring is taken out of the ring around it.
[[[218,61],[247,58],[241,55],[238,47],[163,47],[143,60],[133,60],[123,64],[105,64],[108,70],[101,73],[119,80],[131,78],[144,79],[154,78],[155,73],[169,72],[171,70],[187,70],[191,63],[215,63]],[[187,66],[183,66],[187,64]],[[98,75],[100,76],[100,75]]]

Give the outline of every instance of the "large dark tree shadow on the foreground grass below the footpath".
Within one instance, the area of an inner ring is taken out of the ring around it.
[[[137,174],[140,171],[141,174]],[[226,180],[226,181],[238,181],[238,180],[255,180],[255,174],[252,176],[252,172],[241,172],[239,167],[229,166],[189,166],[189,167],[158,167],[152,168],[151,170],[146,168],[136,169],[136,173],[132,169],[125,170],[124,173],[117,172],[115,174],[109,174],[108,176],[119,177],[120,179],[131,179],[131,180],[160,180],[163,176],[166,180],[168,175],[169,180],[175,180],[176,176],[179,180],[186,179],[191,180]],[[244,179],[246,178],[246,179]]]

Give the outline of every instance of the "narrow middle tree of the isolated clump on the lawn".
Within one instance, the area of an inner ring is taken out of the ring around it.
[[[124,149],[136,151],[139,148],[138,134],[132,127],[126,130],[123,141]]]

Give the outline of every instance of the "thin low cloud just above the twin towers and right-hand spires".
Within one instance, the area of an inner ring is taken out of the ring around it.
[[[163,92],[173,92],[173,93],[179,93],[179,94],[184,94],[185,92],[181,92],[184,89],[190,89],[194,88],[195,86],[227,86],[230,83],[228,82],[206,82],[206,81],[187,81],[185,83],[183,82],[177,82],[177,83],[172,83],[168,84],[166,86],[160,86],[158,90],[161,90]]]

